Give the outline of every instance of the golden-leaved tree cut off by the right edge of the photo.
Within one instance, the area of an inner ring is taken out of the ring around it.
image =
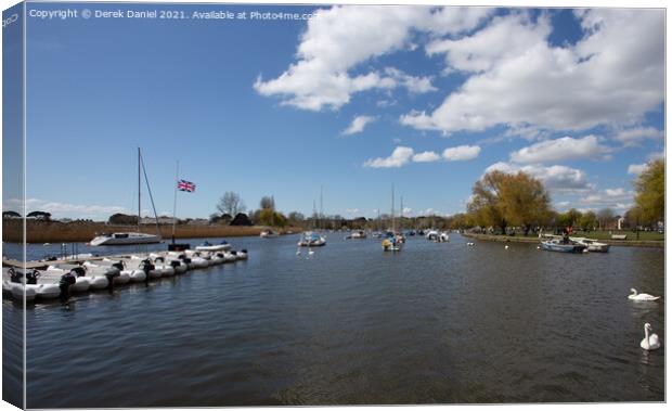
[[[635,185],[635,206],[639,208],[642,222],[656,223],[665,213],[665,163],[662,159],[650,162],[637,177]]]

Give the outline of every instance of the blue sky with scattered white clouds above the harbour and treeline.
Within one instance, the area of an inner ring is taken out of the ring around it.
[[[326,214],[372,217],[389,210],[391,183],[406,215],[455,214],[491,169],[544,180],[558,210],[623,211],[663,155],[663,11],[319,9],[310,21],[28,17],[28,209],[133,213],[138,146],[159,214],[176,160],[197,184],[179,193],[180,217],[207,217],[227,191],[308,215],[321,185]]]

